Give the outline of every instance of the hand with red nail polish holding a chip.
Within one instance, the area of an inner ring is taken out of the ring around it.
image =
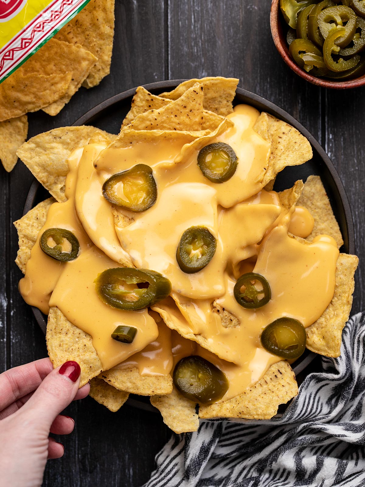
[[[78,390],[80,366],[69,361],[53,370],[42,358],[0,374],[0,484],[39,487],[47,458],[60,458],[62,444],[49,433],[69,434],[74,421],[59,413],[74,399],[89,394]]]

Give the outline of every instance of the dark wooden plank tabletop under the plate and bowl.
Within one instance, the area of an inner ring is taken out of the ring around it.
[[[319,89],[284,64],[274,47],[269,0],[116,0],[111,74],[84,88],[62,112],[29,116],[29,137],[71,125],[110,96],[164,79],[235,76],[239,86],[274,102],[297,118],[325,148],[350,201],[356,249],[364,254],[365,89]],[[47,356],[31,309],[18,293],[21,273],[14,263],[17,232],[33,176],[22,163],[8,175],[0,168],[1,253],[0,372]],[[363,309],[360,260],[352,312]],[[67,414],[76,420],[64,438],[65,455],[52,460],[44,486],[141,486],[154,456],[170,437],[159,414],[124,406],[112,413],[87,398]]]

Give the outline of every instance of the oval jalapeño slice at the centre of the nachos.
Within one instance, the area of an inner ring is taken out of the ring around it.
[[[176,251],[176,260],[183,272],[192,274],[212,260],[217,240],[205,226],[191,226],[184,231]]]

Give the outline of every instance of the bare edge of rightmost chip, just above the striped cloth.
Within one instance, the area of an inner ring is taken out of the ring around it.
[[[342,330],[351,311],[358,263],[356,255],[338,256],[333,298],[322,316],[306,329],[307,348],[312,352],[328,357],[340,356]]]

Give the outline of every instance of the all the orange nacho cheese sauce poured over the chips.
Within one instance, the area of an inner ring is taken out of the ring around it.
[[[303,241],[314,225],[310,212],[288,207],[278,193],[264,189],[270,144],[253,129],[258,115],[238,105],[210,133],[156,131],[147,137],[125,130],[117,147],[89,144],[70,157],[68,201],[50,207],[19,288],[29,304],[43,313],[56,306],[90,334],[104,370],[136,367],[141,375],[167,375],[184,356],[200,355],[226,374],[226,400],[281,360],[261,346],[268,324],[291,317],[307,327],[329,305],[337,245],[326,235]],[[229,144],[238,158],[234,175],[220,184],[197,165],[201,148],[214,142]],[[156,203],[141,213],[112,207],[103,183],[140,163],[153,169]],[[196,225],[209,229],[217,250],[201,271],[185,274],[176,249],[183,232]],[[52,227],[71,230],[79,240],[74,261],[55,261],[40,249],[40,236]],[[171,281],[171,296],[149,311],[106,305],[94,281],[105,269],[123,265],[160,272]],[[234,298],[245,272],[261,274],[270,284],[272,299],[261,308],[242,308]],[[233,319],[227,323],[222,312]],[[120,324],[137,328],[131,344],[111,339]]]

